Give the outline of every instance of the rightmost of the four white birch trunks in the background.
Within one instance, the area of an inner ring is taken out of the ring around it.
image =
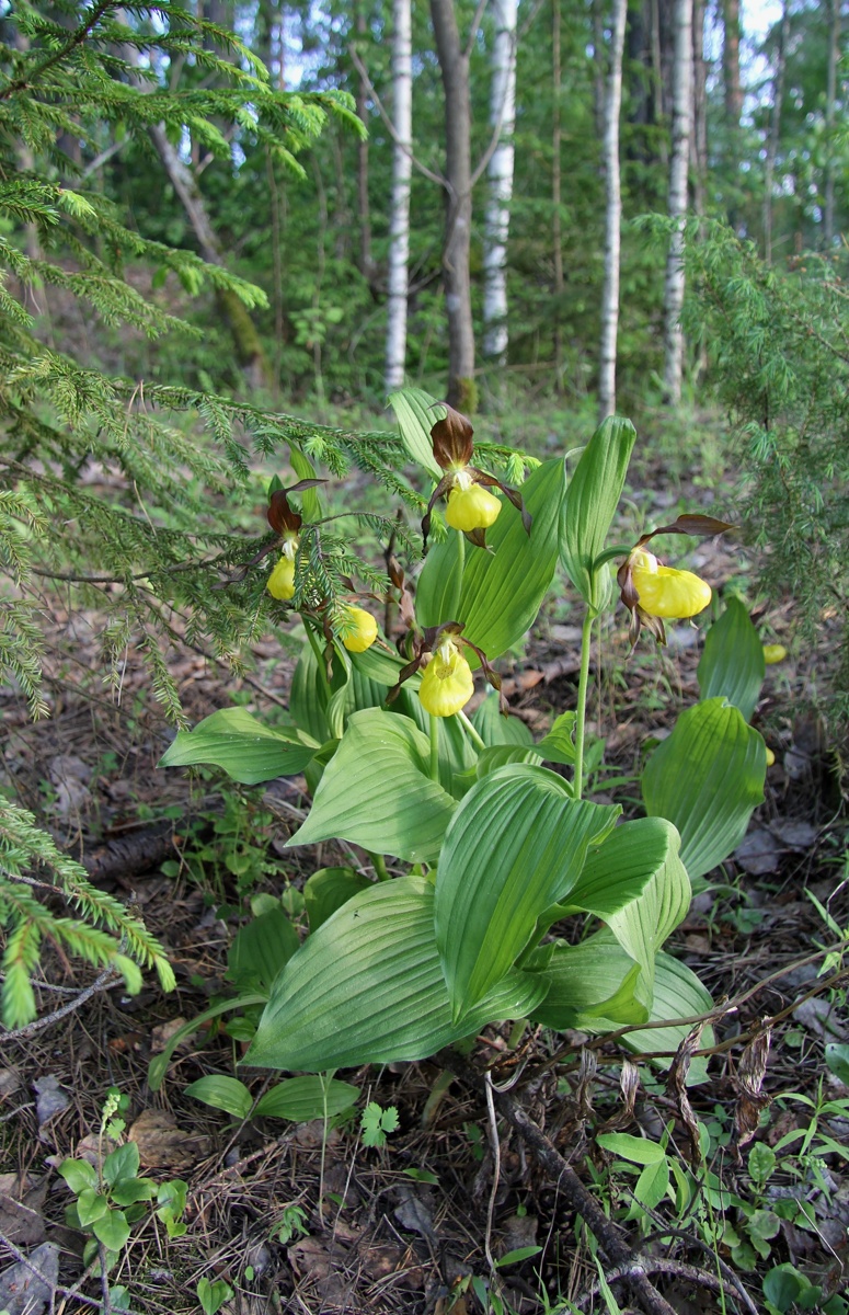
[[[669,217],[673,233],[666,254],[664,285],[664,393],[666,401],[681,401],[683,367],[683,229],[687,213],[687,164],[690,160],[690,121],[693,103],[693,0],[676,0],[674,67],[672,93],[672,154],[669,158]]]

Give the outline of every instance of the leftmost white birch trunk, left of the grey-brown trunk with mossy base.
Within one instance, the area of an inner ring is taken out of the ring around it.
[[[407,346],[407,263],[410,258],[410,176],[413,174],[413,24],[410,0],[393,3],[392,101],[396,132],[389,221],[389,302],[385,383],[403,387]]]

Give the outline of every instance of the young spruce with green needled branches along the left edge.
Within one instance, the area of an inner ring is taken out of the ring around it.
[[[342,473],[356,462],[407,501],[413,494],[388,468],[386,435],[321,430],[179,385],[109,377],[54,350],[30,317],[32,291],[60,288],[80,300],[88,320],[150,338],[175,326],[192,330],[139,295],[125,277],[130,262],[154,267],[154,287],[173,276],[191,293],[209,287],[248,310],[264,305],[259,288],[222,264],[141,238],[114,204],[87,187],[84,162],[104,142],[114,145],[122,134],[149,142],[162,128],[179,150],[191,137],[204,151],[230,159],[230,129],[244,154],[268,150],[302,174],[297,154],[329,117],[355,130],[360,124],[343,93],[275,91],[233,33],[170,0],[155,7],[22,0],[7,12],[3,38],[0,680],[20,689],[33,718],[47,714],[39,598],[59,581],[76,604],[108,617],[106,679],[117,684],[121,655],[133,646],[168,717],[179,722],[166,659],[168,643],[179,638],[175,619],[184,618],[189,642],[237,661],[239,643],[262,630],[271,604],[260,568],[248,569],[241,584],[213,588],[258,548],[256,539],[234,534],[229,523],[247,487],[251,448],[271,458],[285,444],[285,459],[301,476],[313,473],[311,463]],[[214,75],[214,87],[170,89],[170,68],[185,59]],[[74,143],[75,158],[63,142]],[[177,425],[180,412],[188,418]],[[97,492],[83,479],[95,463],[114,476]],[[325,598],[334,597],[342,573],[376,579],[333,530],[305,533],[301,547],[309,565],[301,576]],[[7,1028],[35,1015],[32,981],[43,942],[117,969],[130,989],[141,985],[139,969],[151,965],[166,988],[173,982],[143,924],[3,796],[0,928]]]

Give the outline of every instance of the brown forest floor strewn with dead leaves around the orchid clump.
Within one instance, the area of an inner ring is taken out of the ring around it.
[[[715,584],[740,565],[737,550],[715,542],[693,560]],[[599,1291],[591,1239],[556,1178],[506,1124],[498,1124],[495,1173],[484,1095],[473,1082],[448,1085],[435,1063],[336,1074],[359,1086],[364,1102],[397,1110],[398,1128],[382,1148],[363,1144],[359,1120],[330,1128],[322,1120],[242,1122],[187,1095],[188,1084],[204,1074],[237,1073],[244,1045],[217,1026],[198,1028],[177,1048],[164,1085],[151,1093],[151,1057],[176,1026],[226,994],[227,948],[251,901],[297,890],[335,853],[333,846],[318,853],[284,848],[302,815],[302,781],[246,789],[222,785],[218,773],[189,780],[156,769],[172,732],[141,663],[127,655],[120,701],[113,700],[99,677],[103,617],[71,610],[58,597],[50,600],[50,615],[51,718],[32,726],[20,698],[0,690],[5,785],[63,848],[84,859],[95,880],[139,910],[170,951],[177,989],[163,995],[147,981],[142,994],[129,997],[121,984],[110,984],[47,1028],[3,1045],[0,1233],[11,1247],[0,1245],[0,1269],[45,1244],[55,1244],[54,1255],[58,1247],[59,1269],[50,1299],[32,1286],[32,1276],[24,1281],[20,1269],[7,1269],[0,1311],[4,1304],[11,1315],[97,1308],[100,1283],[83,1262],[83,1235],[66,1223],[72,1198],[57,1169],[68,1156],[96,1159],[113,1088],[127,1098],[124,1116],[141,1172],[188,1184],[185,1235],[170,1240],[150,1211],[110,1276],[143,1315],[198,1311],[202,1278],[227,1285],[231,1295],[213,1287],[213,1297],[226,1295],[221,1308],[229,1312],[472,1315],[481,1310],[472,1279],[490,1278],[488,1249],[499,1257],[519,1248],[540,1249],[498,1272],[505,1310],[616,1310],[612,1294]],[[770,639],[792,647],[790,605],[762,613],[758,623]],[[578,646],[568,608],[552,606],[524,655],[505,667],[511,709],[535,734],[553,713],[574,706]],[[699,633],[679,623],[666,652],[645,640],[628,661],[626,654],[618,615],[594,656],[601,679],[591,715],[607,742],[610,772],[599,772],[591,789],[597,800],[615,798],[633,813],[647,744],[668,734],[677,711],[698,698]],[[285,705],[293,654],[272,635],[256,644],[254,659],[252,675],[234,682],[202,654],[171,654],[189,719],[234,696],[260,714]],[[777,759],[765,803],[668,947],[715,1001],[740,1002],[716,1026],[720,1051],[707,1081],[689,1093],[711,1136],[714,1190],[681,1211],[669,1199],[632,1210],[623,1224],[628,1244],[656,1260],[653,1281],[681,1315],[766,1310],[764,1276],[778,1265],[821,1285],[821,1301],[845,1283],[849,1088],[827,1066],[825,1045],[849,1040],[849,1020],[845,990],[840,982],[823,989],[816,976],[823,956],[812,956],[838,943],[849,924],[849,873],[840,782],[817,723],[796,713],[816,663],[816,652],[808,652],[804,665],[768,668],[754,718]],[[45,967],[38,990],[45,1014],[95,976],[55,955]],[[753,1055],[745,1044],[764,1038],[768,1019],[775,1023],[766,1073],[761,1090],[752,1078],[749,1098],[756,1123],[760,1110],[756,1141],[774,1160],[761,1157],[773,1168],[758,1182],[750,1147],[736,1156],[732,1135],[735,1114],[745,1118]],[[494,1059],[497,1082],[519,1073],[514,1099],[599,1203],[622,1218],[635,1177],[594,1144],[595,1132],[615,1127],[658,1141],[670,1126],[669,1153],[681,1164],[686,1136],[662,1074],[640,1065],[639,1091],[626,1102],[622,1052],[612,1044],[598,1049],[593,1070],[581,1065],[585,1040],[538,1028],[515,1052],[506,1031],[488,1028],[477,1057]],[[268,1082],[239,1076],[254,1094]],[[781,1206],[787,1201],[791,1208]],[[794,1308],[786,1285],[769,1291],[779,1289],[787,1304],[778,1308]],[[627,1291],[615,1291],[624,1310]]]

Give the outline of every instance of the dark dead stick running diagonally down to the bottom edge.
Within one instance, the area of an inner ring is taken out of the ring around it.
[[[438,1063],[449,1069],[467,1086],[474,1086],[481,1093],[486,1090],[481,1074],[453,1051],[443,1051]],[[645,1265],[627,1245],[616,1224],[607,1218],[572,1165],[564,1160],[543,1130],[534,1123],[507,1091],[498,1091],[497,1088],[490,1088],[490,1090],[503,1118],[516,1130],[538,1164],[551,1174],[557,1190],[562,1193],[572,1208],[581,1215],[607,1260],[622,1272],[622,1277],[640,1298],[643,1307],[649,1315],[676,1315],[669,1302],[649,1281]]]

